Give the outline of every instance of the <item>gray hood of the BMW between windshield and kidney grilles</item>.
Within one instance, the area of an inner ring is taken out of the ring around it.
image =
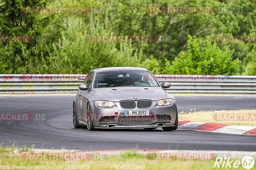
[[[119,102],[120,100],[148,99],[157,101],[166,98],[166,92],[161,87],[114,87],[92,89],[102,100]],[[173,97],[173,99],[175,99]]]

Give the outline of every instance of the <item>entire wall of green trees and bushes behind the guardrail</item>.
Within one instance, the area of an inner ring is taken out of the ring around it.
[[[92,11],[24,14],[26,6],[90,6]],[[149,6],[215,6],[217,11],[148,13]],[[256,75],[255,45],[212,43],[214,35],[256,35],[255,9],[254,0],[1,0],[0,35],[47,39],[0,43],[0,74],[86,74],[98,67],[132,66],[154,74]],[[87,39],[90,35],[155,35],[157,40],[92,43]]]

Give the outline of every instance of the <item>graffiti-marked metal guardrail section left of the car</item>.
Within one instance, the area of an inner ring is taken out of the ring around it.
[[[76,93],[87,74],[0,74],[0,93]]]

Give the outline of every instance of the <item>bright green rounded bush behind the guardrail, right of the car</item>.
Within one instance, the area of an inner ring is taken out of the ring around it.
[[[223,52],[216,43],[188,35],[188,50],[182,51],[172,64],[166,60],[163,73],[232,75],[238,66],[238,59],[232,60],[233,52]]]

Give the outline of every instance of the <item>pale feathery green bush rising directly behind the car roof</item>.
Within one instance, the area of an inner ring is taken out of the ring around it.
[[[147,59],[142,50],[138,50],[130,42],[89,42],[89,35],[113,34],[107,32],[104,25],[98,23],[97,20],[94,26],[89,25],[89,27],[84,27],[79,18],[68,17],[63,19],[62,23],[65,34],[63,33],[59,41],[53,45],[48,60],[40,64],[40,73],[71,74],[88,73],[99,67],[132,66],[151,69],[159,66],[156,59],[152,57],[152,60]],[[89,22],[89,24],[92,23]],[[153,69],[153,72],[158,73],[159,69]]]

